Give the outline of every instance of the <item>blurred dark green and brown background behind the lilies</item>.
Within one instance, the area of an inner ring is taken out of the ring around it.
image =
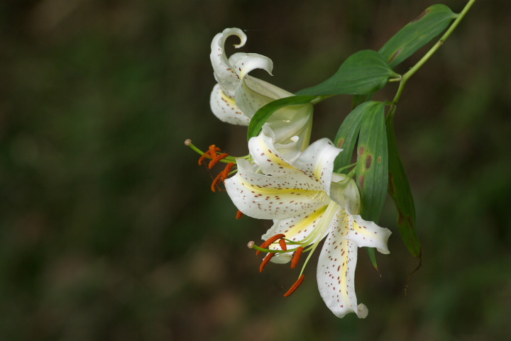
[[[422,268],[405,296],[417,262],[388,201],[381,276],[359,252],[366,320],[326,308],[317,255],[282,297],[298,272],[259,274],[246,248],[270,222],[236,220],[209,190],[217,170],[183,145],[247,152],[246,128],[209,110],[209,46],[224,28],[273,59],[274,77],[254,76],[297,91],[432,4],[1,1],[0,340],[510,340],[510,1],[477,1],[406,86],[396,130]],[[334,138],[350,102],[317,105],[313,140]]]

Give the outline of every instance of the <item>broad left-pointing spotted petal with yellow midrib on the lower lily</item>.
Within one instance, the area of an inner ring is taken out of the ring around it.
[[[296,170],[269,176],[255,173],[256,166],[247,160],[236,161],[238,172],[226,179],[225,186],[234,205],[246,216],[258,219],[291,218],[312,212],[330,201],[324,191],[307,189],[296,180],[300,173]]]

